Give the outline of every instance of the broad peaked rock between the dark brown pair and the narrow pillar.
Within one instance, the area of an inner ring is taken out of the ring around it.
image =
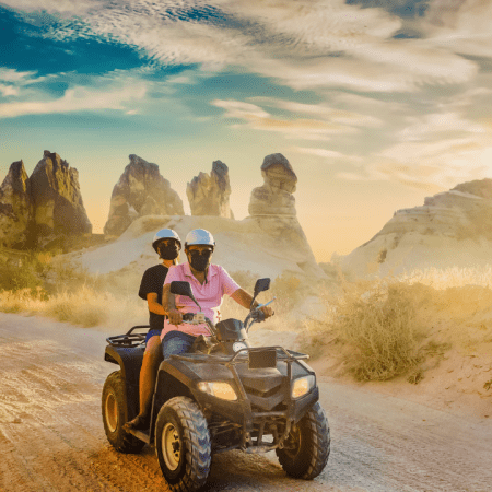
[[[109,215],[104,226],[106,236],[119,236],[139,216],[184,215],[183,201],[171,188],[156,164],[138,155],[129,156],[130,163],[113,188]]]

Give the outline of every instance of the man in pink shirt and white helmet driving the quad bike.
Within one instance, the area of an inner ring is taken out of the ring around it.
[[[164,320],[161,333],[164,359],[187,352],[199,335],[211,335],[206,324],[183,324],[184,313],[197,313],[199,309],[189,297],[172,294],[171,282],[175,280],[189,282],[204,315],[213,323],[220,321],[219,309],[225,294],[247,309],[251,305],[253,296],[241,289],[222,267],[211,265],[214,247],[215,242],[208,231],[196,229],[189,232],[185,241],[188,262],[172,267],[166,276],[162,297],[167,319]],[[254,307],[255,305],[258,303],[255,302]],[[273,314],[269,306],[261,307],[261,311],[265,318]]]

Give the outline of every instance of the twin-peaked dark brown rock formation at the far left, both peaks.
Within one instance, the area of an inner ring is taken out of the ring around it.
[[[61,237],[90,234],[78,171],[49,151],[31,177],[22,161],[14,162],[1,186],[0,224],[8,247],[44,247]]]

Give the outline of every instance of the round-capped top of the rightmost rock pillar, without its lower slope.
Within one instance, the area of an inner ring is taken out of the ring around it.
[[[255,188],[249,201],[249,214],[295,216],[295,191],[297,176],[282,154],[267,155],[261,165],[263,186]]]

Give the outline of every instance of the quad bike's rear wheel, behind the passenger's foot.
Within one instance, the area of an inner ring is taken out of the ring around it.
[[[107,376],[102,403],[104,430],[112,446],[120,453],[139,453],[145,443],[122,429],[127,421],[127,406],[121,371]]]

